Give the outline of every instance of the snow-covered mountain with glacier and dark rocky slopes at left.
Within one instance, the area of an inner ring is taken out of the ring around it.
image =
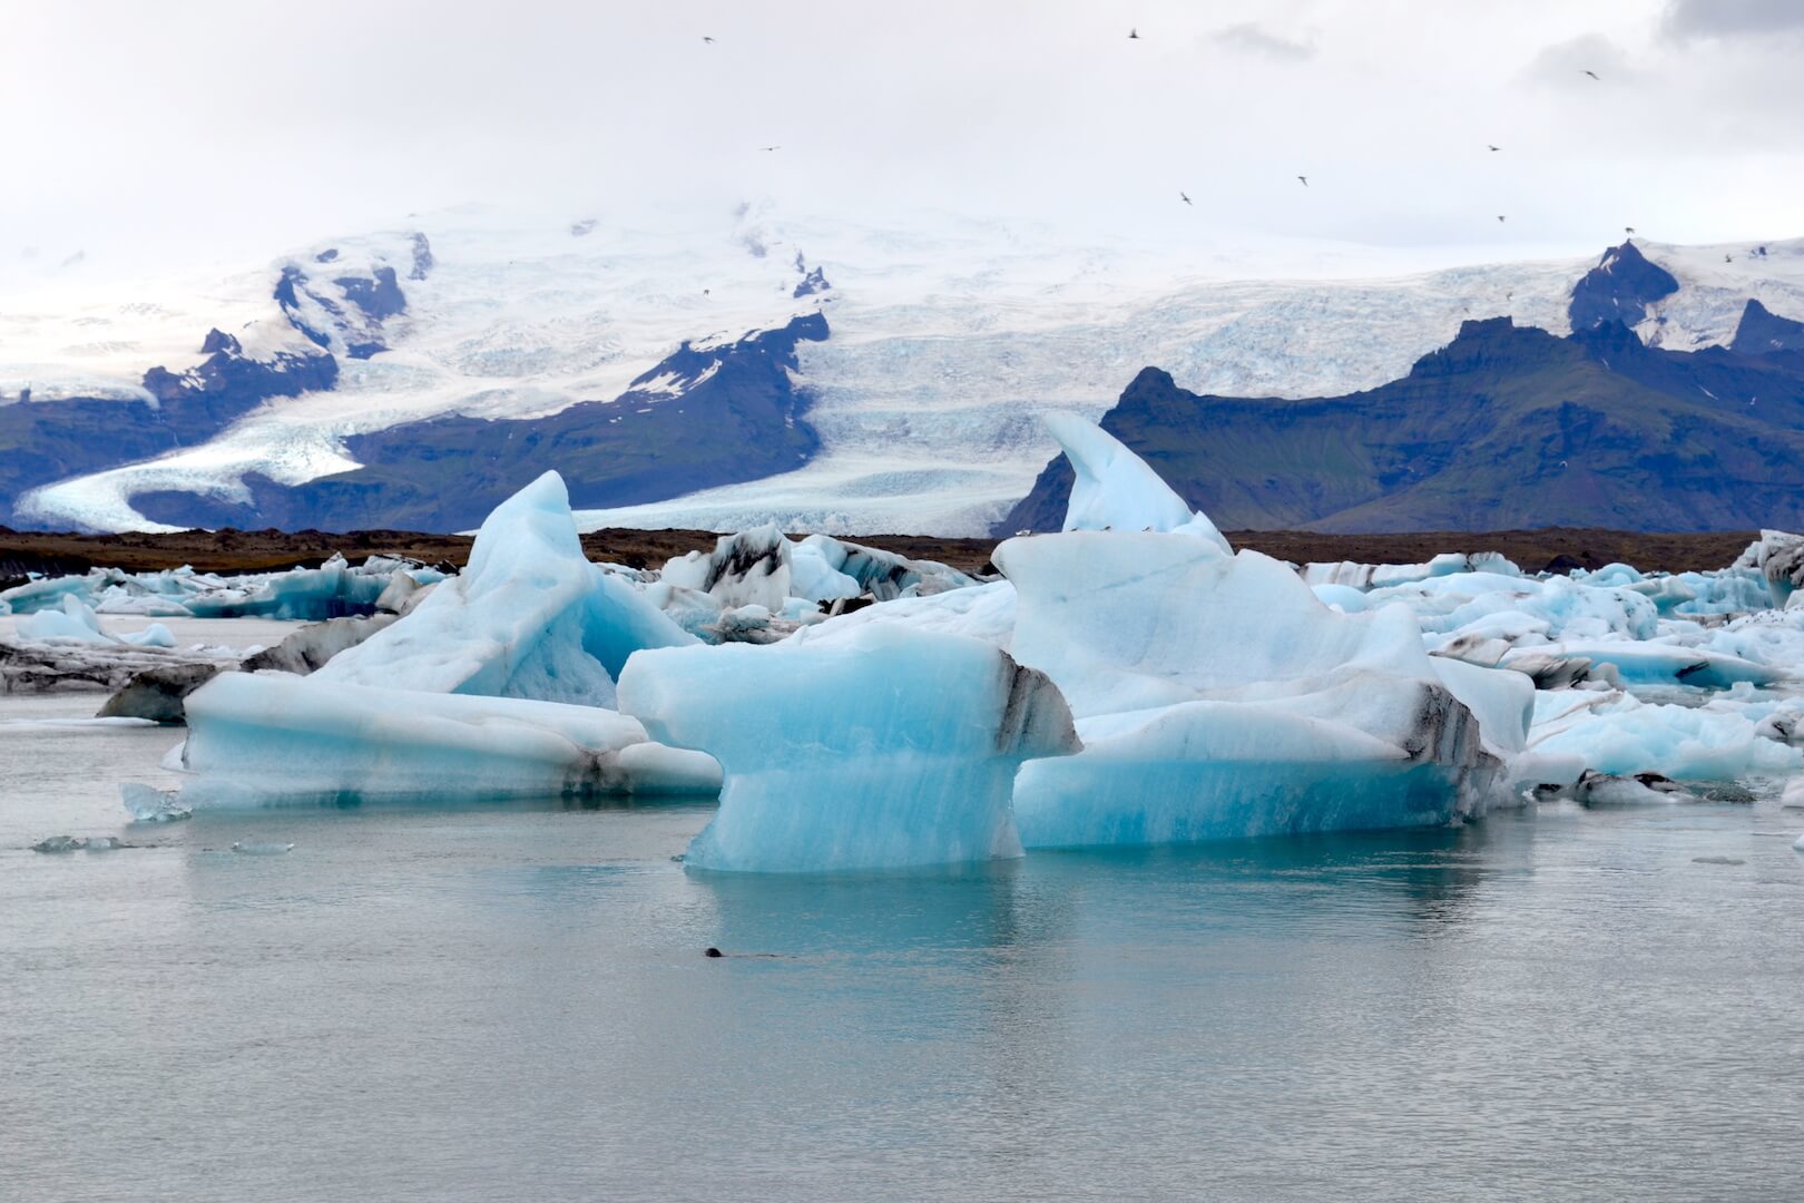
[[[1272,245],[1183,262],[953,218],[451,213],[226,280],[9,299],[0,505],[101,530],[447,527],[561,467],[590,527],[983,534],[1054,451],[1037,415],[1099,417],[1147,364],[1196,393],[1349,393],[1467,319],[1566,334],[1588,272],[1656,346],[1728,344],[1750,298],[1804,317],[1804,240],[1409,267]]]

